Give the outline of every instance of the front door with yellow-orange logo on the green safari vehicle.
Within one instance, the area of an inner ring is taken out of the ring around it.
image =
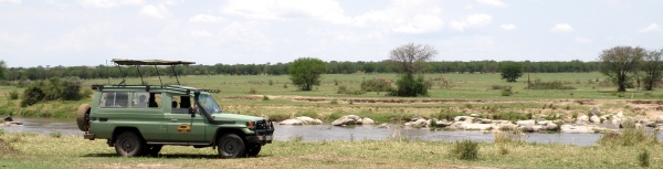
[[[164,97],[169,99],[165,102],[170,106],[170,113],[167,113],[168,138],[176,142],[204,142],[206,141],[206,122],[202,116],[189,114],[191,107],[191,97],[187,95],[173,95]]]

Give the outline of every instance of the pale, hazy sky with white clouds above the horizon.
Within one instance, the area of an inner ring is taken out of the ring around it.
[[[434,61],[597,61],[663,49],[663,0],[0,0],[9,67],[383,61],[398,46]]]

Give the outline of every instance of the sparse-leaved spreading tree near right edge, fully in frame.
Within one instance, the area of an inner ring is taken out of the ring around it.
[[[617,92],[627,92],[627,83],[638,71],[638,65],[646,52],[642,47],[614,46],[603,50],[599,55],[601,73],[617,83]]]

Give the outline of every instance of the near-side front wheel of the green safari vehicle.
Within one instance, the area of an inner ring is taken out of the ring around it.
[[[240,158],[244,156],[244,140],[235,134],[227,134],[219,138],[217,150],[221,158]]]

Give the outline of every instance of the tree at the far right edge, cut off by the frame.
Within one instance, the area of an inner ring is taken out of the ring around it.
[[[644,72],[644,89],[653,91],[663,77],[663,49],[649,51],[643,57],[641,70]]]

